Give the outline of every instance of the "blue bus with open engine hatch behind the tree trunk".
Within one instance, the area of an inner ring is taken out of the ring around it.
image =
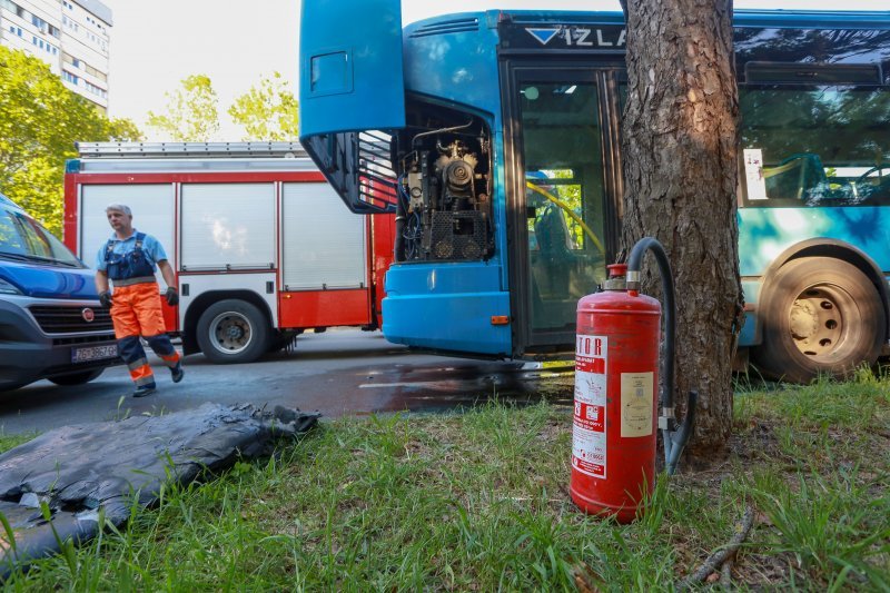
[[[623,16],[403,29],[399,0],[304,0],[301,23],[300,140],[353,211],[397,213],[386,338],[571,356],[577,299],[620,249]],[[740,352],[801,382],[873,363],[890,337],[890,12],[739,10],[734,47]]]

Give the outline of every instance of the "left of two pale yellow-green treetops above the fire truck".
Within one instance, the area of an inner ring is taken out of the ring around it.
[[[219,132],[219,98],[210,77],[191,75],[165,93],[166,113],[148,112],[148,126],[177,142],[207,142]]]

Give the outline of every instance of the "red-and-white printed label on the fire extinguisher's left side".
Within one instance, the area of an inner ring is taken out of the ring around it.
[[[577,336],[572,467],[605,477],[605,395],[609,356],[606,336]]]

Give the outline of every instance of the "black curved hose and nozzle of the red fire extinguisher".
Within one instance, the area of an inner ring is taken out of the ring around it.
[[[686,405],[686,414],[679,429],[674,423],[674,344],[676,340],[676,315],[674,298],[674,276],[671,273],[671,263],[668,253],[653,237],[643,237],[631,249],[631,257],[627,260],[627,289],[640,290],[640,268],[643,264],[643,256],[646,251],[652,251],[655,261],[659,264],[661,275],[662,298],[664,299],[664,358],[662,360],[663,383],[659,403],[661,405],[662,417],[659,425],[662,429],[662,441],[664,443],[664,463],[669,475],[676,470],[680,455],[692,436],[692,425],[695,422],[695,404],[698,393],[690,392]]]

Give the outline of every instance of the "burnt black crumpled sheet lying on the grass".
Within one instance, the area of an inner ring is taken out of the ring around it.
[[[312,428],[318,414],[250,404],[205,404],[164,416],[66,426],[0,455],[0,581],[29,560],[81,544],[162,485],[188,484],[205,471],[271,453],[274,442]],[[50,521],[46,521],[46,510]],[[11,535],[11,537],[10,537]],[[11,541],[14,540],[14,541]]]

